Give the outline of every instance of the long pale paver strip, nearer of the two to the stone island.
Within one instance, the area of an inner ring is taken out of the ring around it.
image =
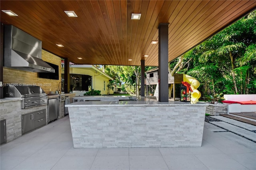
[[[256,133],[251,132],[249,130],[246,130],[244,128],[240,128],[234,125],[231,125],[229,123],[226,122],[211,122],[214,125],[217,125],[219,127],[225,128],[227,130],[229,130],[230,132],[234,132],[236,134],[239,134],[241,136],[244,136],[250,140],[253,140],[254,142],[256,142]]]

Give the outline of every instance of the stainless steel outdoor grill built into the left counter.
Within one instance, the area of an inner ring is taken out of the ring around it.
[[[39,86],[14,86],[4,87],[4,97],[21,98],[21,108],[26,109],[47,104],[47,95]]]

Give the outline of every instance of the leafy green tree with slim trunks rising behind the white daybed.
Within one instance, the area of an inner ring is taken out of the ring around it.
[[[214,63],[218,67],[218,73],[226,81],[232,81],[232,85],[224,82],[229,87],[225,89],[228,93],[248,92],[250,79],[247,77],[255,68],[255,28],[254,11],[194,49],[196,55],[200,55],[200,63]]]

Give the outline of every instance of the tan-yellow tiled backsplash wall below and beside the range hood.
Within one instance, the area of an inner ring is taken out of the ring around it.
[[[48,51],[42,50],[42,60],[55,65],[59,65],[59,80],[43,79],[38,77],[38,73],[22,71],[17,69],[10,69],[7,67],[3,68],[3,83],[11,84],[27,84],[27,85],[38,85],[45,93],[55,91],[58,89],[58,84],[61,81],[61,58],[49,53]]]

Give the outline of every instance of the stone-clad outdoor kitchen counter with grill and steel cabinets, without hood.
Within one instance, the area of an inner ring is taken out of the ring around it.
[[[66,103],[72,103],[74,94],[47,95],[39,86],[6,86],[6,94],[13,97],[0,99],[1,144],[40,128],[68,114]],[[32,94],[32,93],[33,94]],[[72,99],[72,98],[71,98]],[[65,112],[66,110],[66,112]]]

